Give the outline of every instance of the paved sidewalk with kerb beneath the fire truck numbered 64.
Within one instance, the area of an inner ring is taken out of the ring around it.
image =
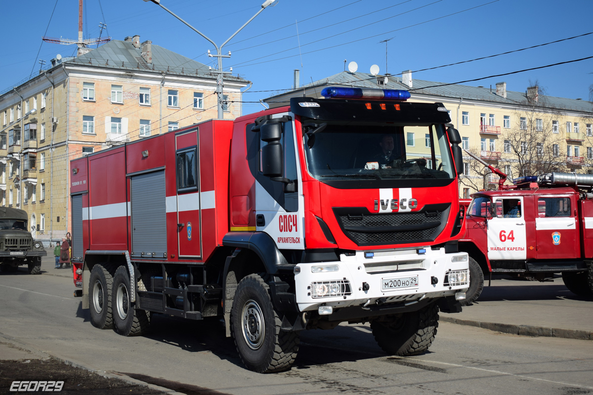
[[[556,278],[552,282],[494,277],[472,305],[461,313],[440,313],[443,322],[482,327],[525,336],[593,340],[593,298],[571,293]]]

